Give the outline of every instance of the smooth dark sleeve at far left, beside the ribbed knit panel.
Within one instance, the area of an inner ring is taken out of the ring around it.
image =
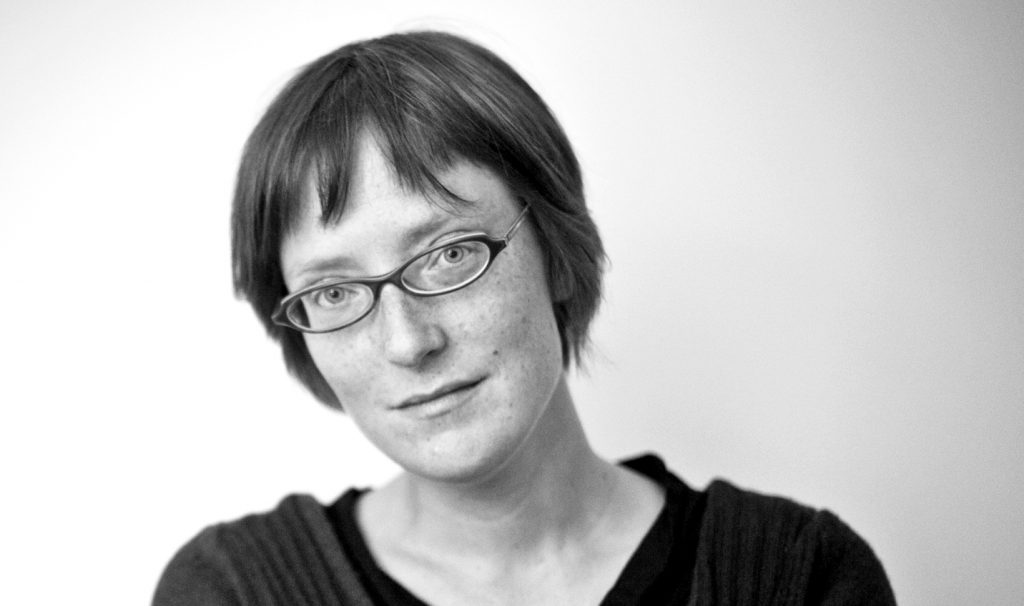
[[[230,566],[211,527],[184,545],[164,569],[153,606],[242,606]]]

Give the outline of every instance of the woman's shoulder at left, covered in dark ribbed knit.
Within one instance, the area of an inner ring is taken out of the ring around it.
[[[271,511],[209,526],[174,555],[154,606],[259,604],[280,593],[276,579],[296,568],[330,527],[311,496],[293,494]],[[316,574],[315,567],[308,571]],[[271,603],[271,602],[266,602]]]

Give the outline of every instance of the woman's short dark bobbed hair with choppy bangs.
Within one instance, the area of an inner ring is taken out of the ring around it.
[[[446,191],[436,174],[465,160],[503,177],[530,205],[547,262],[562,359],[580,362],[601,298],[604,250],[565,133],[528,84],[463,38],[414,32],[354,42],[302,69],[246,143],[231,213],[236,294],[280,342],[289,371],[319,400],[339,402],[301,333],[270,319],[287,294],[280,253],[315,180],[327,223],[340,217],[364,133],[399,181]]]

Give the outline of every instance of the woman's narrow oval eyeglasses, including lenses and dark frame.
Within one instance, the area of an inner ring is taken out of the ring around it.
[[[304,333],[330,333],[359,321],[377,305],[384,285],[418,297],[464,289],[487,272],[498,253],[512,241],[527,206],[502,237],[483,232],[460,235],[430,247],[392,271],[376,277],[338,279],[295,292],[278,304],[274,323]]]

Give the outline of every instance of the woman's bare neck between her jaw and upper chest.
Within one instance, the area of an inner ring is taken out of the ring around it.
[[[406,474],[381,490],[407,545],[494,559],[584,539],[616,474],[590,447],[564,378],[530,439],[489,476],[450,483]]]

